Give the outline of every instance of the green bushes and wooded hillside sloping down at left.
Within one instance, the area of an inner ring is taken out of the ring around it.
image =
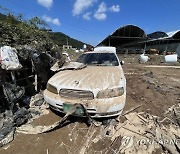
[[[21,15],[14,16],[0,13],[1,45],[32,44],[35,41],[42,44],[41,46],[45,44],[47,46],[48,44],[47,48],[49,48],[52,43],[62,47],[67,44],[68,40],[69,45],[80,49],[85,44],[61,32],[50,32],[46,29],[49,29],[49,26],[38,17],[23,20]]]

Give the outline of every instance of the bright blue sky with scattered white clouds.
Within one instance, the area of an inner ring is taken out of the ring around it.
[[[180,29],[180,0],[0,0],[0,5],[24,18],[38,16],[53,31],[92,45],[127,24],[147,34]]]

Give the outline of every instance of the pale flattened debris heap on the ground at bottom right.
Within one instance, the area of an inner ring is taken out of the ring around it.
[[[169,153],[179,153],[179,127],[170,124],[163,125],[158,117],[145,113],[130,113],[125,115],[127,119],[116,127],[116,132],[111,138],[115,141],[121,137],[121,153],[153,153],[157,149]],[[117,152],[117,153],[118,153]]]

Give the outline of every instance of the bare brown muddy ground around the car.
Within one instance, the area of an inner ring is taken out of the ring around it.
[[[127,80],[127,101],[124,112],[141,105],[136,111],[164,117],[173,104],[180,103],[180,66],[155,67],[138,64],[127,59],[123,65]],[[163,66],[163,64],[161,64]],[[165,65],[167,66],[167,65]],[[34,121],[34,125],[50,125],[61,116],[50,110],[48,115]],[[94,136],[103,133],[104,127],[88,127],[82,121],[72,120],[62,128],[39,135],[15,134],[15,139],[0,148],[3,154],[115,154],[121,142],[112,143],[108,137],[96,141]],[[106,136],[106,135],[105,135]],[[111,148],[110,148],[111,147]],[[156,151],[158,153],[158,151]]]

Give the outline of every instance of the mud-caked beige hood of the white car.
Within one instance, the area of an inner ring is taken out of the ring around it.
[[[58,91],[67,88],[89,90],[95,94],[100,90],[124,86],[125,77],[121,66],[87,66],[80,70],[60,71],[48,83]]]

